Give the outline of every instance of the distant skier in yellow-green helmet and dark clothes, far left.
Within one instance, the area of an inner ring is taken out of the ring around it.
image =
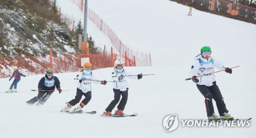
[[[10,90],[6,91],[7,93],[13,93],[13,92],[17,92],[17,83],[20,81],[20,76],[26,77],[26,75],[23,75],[22,73],[20,73],[20,71],[18,70],[17,66],[13,67],[13,75],[11,76],[11,78],[9,79],[9,81],[14,77],[13,83],[10,86]],[[14,86],[14,89],[13,89]],[[12,90],[13,89],[13,90]]]

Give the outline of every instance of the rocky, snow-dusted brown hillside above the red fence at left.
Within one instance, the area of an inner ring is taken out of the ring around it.
[[[69,31],[49,0],[0,0],[1,59],[78,53]]]

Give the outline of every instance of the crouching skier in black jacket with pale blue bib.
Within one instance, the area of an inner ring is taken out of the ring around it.
[[[38,95],[30,99],[26,103],[31,106],[38,101],[36,106],[43,106],[43,104],[47,101],[47,99],[49,99],[51,94],[53,94],[53,90],[55,90],[55,87],[57,88],[57,90],[59,90],[59,93],[62,92],[62,90],[60,89],[60,82],[58,77],[53,75],[53,70],[48,69],[45,76],[39,80]]]

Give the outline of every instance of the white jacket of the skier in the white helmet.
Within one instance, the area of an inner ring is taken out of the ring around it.
[[[122,80],[118,80],[118,77],[123,74],[123,79]],[[127,81],[125,80],[126,77],[129,79],[138,79],[138,76],[128,76],[128,75],[132,75],[131,72],[129,72],[128,70],[122,68],[121,70],[118,70],[117,68],[114,67],[113,71],[111,72],[111,78],[113,80],[113,88],[114,89],[119,89],[121,91],[125,91],[127,90],[126,88],[128,88],[127,85]]]

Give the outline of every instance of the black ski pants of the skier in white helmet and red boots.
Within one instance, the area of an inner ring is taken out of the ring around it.
[[[113,91],[115,93],[114,100],[112,100],[112,102],[108,105],[108,107],[105,110],[112,112],[112,110],[115,108],[115,106],[119,102],[120,97],[122,95],[122,99],[121,99],[120,103],[118,104],[117,108],[124,111],[125,105],[126,105],[127,99],[128,99],[128,88],[125,91],[121,91],[118,89],[113,89]]]

